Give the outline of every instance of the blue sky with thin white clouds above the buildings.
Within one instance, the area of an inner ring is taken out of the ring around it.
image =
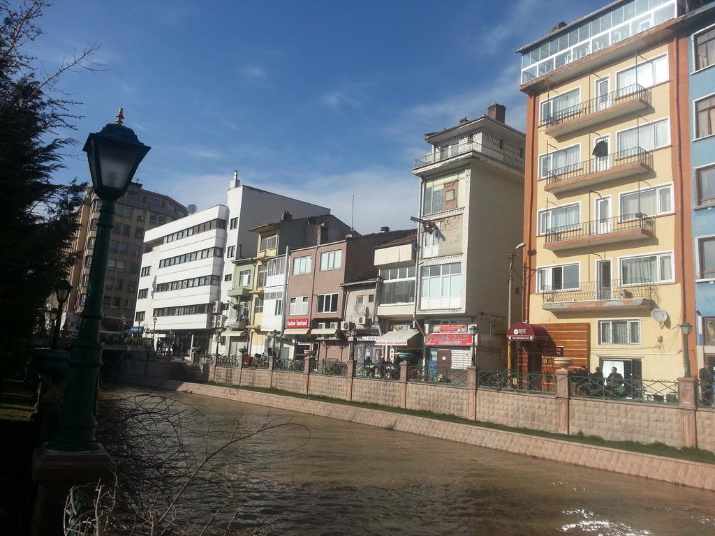
[[[19,0],[15,1],[15,5]],[[199,210],[243,184],[330,207],[358,232],[414,227],[424,134],[506,105],[526,123],[516,49],[606,0],[57,0],[26,50],[52,71],[87,44],[99,70],[59,89],[76,154],[55,179],[89,181],[87,134],[124,108],[152,147],[144,188]],[[60,132],[59,134],[66,134]]]

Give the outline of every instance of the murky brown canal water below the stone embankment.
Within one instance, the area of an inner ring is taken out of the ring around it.
[[[290,422],[222,455],[217,469],[230,486],[189,488],[184,506],[197,519],[226,502],[238,510],[232,527],[270,521],[262,534],[271,535],[715,534],[715,493],[240,402],[157,394],[192,408],[182,424],[199,455],[234,430]]]

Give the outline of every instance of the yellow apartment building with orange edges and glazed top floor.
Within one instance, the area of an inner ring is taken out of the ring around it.
[[[508,337],[522,369],[563,354],[627,379],[683,373],[691,112],[677,24],[689,4],[611,2],[518,51],[528,255],[525,324]]]

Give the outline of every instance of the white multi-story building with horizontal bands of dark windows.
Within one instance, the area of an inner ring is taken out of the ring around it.
[[[159,345],[175,343],[181,354],[188,356],[192,348],[216,352],[216,313],[221,318],[228,307],[232,261],[255,257],[250,229],[278,221],[285,212],[300,218],[330,214],[330,209],[242,185],[235,174],[226,205],[147,231],[134,323],[155,329]],[[216,302],[222,302],[217,310]]]

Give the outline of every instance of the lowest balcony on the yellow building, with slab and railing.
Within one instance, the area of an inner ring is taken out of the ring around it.
[[[658,287],[644,279],[612,279],[609,283],[581,282],[578,288],[546,287],[541,308],[551,312],[650,310],[659,302]]]

